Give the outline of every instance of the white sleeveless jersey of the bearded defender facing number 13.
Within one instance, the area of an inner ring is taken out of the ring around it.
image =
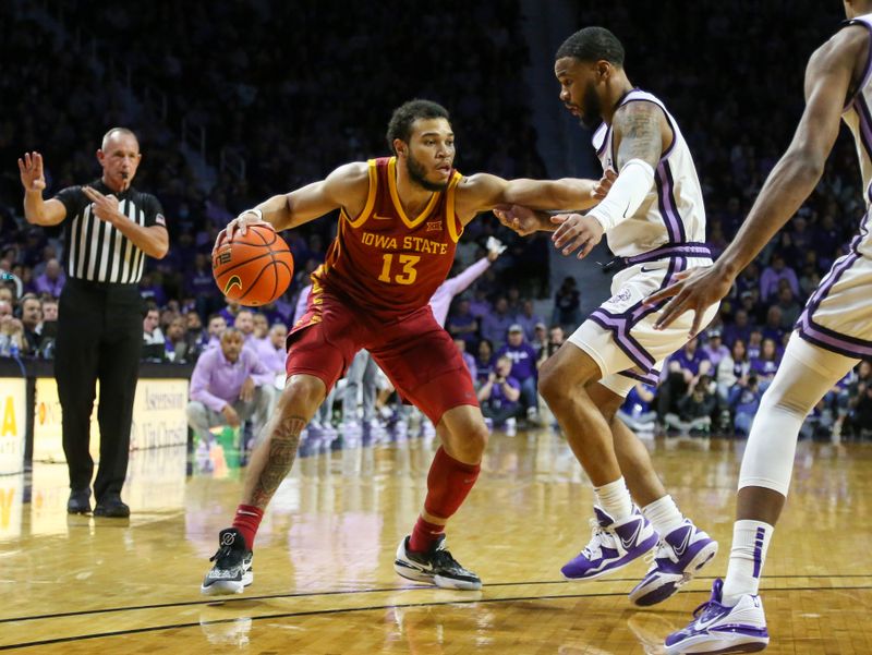
[[[659,246],[705,241],[705,207],[693,157],[678,123],[655,96],[639,89],[628,93],[627,102],[653,102],[666,114],[673,128],[673,144],[654,170],[654,186],[635,214],[606,234],[608,247],[620,257],[639,255]],[[603,170],[616,170],[611,125],[603,123],[594,132],[593,146]]]

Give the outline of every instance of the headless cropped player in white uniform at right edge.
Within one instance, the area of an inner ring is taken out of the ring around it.
[[[772,386],[763,396],[739,473],[737,521],[727,579],[687,628],[666,639],[674,653],[750,653],[768,644],[758,596],[773,527],[790,485],[797,436],[807,414],[861,357],[872,355],[872,1],[846,0],[850,19],[806,69],[806,110],[794,141],[770,174],[737,238],[704,270],[651,298],[673,329],[724,298],[736,276],[794,216],[824,172],[844,120],[857,142],[865,189],[863,216],[850,252],[837,259],[809,299]]]

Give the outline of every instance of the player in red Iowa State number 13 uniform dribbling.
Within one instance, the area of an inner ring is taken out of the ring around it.
[[[354,354],[365,348],[408,401],[436,425],[441,447],[427,476],[424,509],[397,550],[403,578],[477,590],[479,577],[445,548],[445,524],[479,476],[487,427],[472,380],[428,301],[445,281],[464,226],[499,204],[584,209],[609,180],[511,180],[457,172],[448,112],[412,100],[387,132],[393,157],[347,163],[325,180],[244,211],[219,235],[258,223],[277,231],[340,210],[336,240],[312,275],[306,313],[288,337],[288,381],[252,454],[232,527],[222,530],[204,594],[241,593],[253,580],[252,546],[264,509],[288,475],[300,433]]]

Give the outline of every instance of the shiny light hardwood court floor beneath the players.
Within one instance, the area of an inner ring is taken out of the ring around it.
[[[626,594],[644,562],[601,582],[559,568],[590,536],[590,486],[546,430],[494,435],[449,543],[481,592],[399,579],[393,553],[435,445],[409,439],[298,460],[257,537],[255,582],[216,602],[199,583],[238,500],[238,473],[184,476],[183,449],[134,453],[129,522],[64,513],[64,466],[0,477],[0,650],[304,655],[661,652],[723,575],[743,444],[650,441],[669,490],[722,551],[662,606]],[[317,450],[317,449],[316,449]],[[222,475],[226,475],[222,477]],[[770,653],[872,653],[872,448],[800,444],[763,584]],[[22,502],[24,500],[24,502]]]

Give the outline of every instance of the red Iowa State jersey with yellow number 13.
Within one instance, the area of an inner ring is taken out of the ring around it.
[[[313,283],[344,295],[367,313],[399,318],[426,305],[455,260],[463,226],[455,216],[462,175],[451,170],[445,191],[409,218],[397,194],[397,158],[371,159],[370,194],[358,217],[343,210]]]

